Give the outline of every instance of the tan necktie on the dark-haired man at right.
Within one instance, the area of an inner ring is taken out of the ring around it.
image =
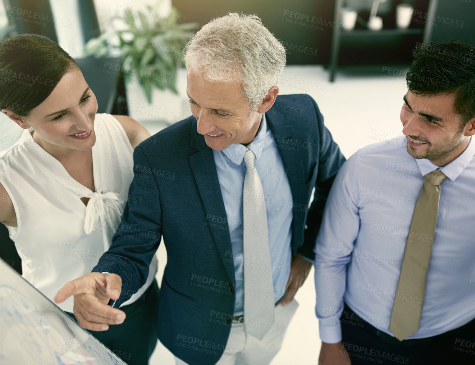
[[[440,184],[446,178],[439,170],[424,176],[424,185],[414,208],[389,325],[389,330],[399,341],[419,329],[436,231]]]

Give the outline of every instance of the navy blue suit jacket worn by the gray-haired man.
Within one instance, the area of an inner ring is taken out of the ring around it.
[[[314,259],[323,207],[345,158],[309,95],[277,96],[266,120],[294,200],[292,254]],[[145,283],[163,236],[168,262],[161,283],[158,337],[188,364],[209,365],[226,347],[235,277],[228,225],[209,224],[213,216],[226,222],[226,210],[213,151],[196,127],[190,116],[135,148],[129,190],[133,199],[128,199],[112,246],[93,271],[121,276],[122,293],[114,306],[118,307]]]

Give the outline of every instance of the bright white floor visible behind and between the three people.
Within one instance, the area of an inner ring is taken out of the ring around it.
[[[402,96],[406,93],[404,78],[382,70],[380,67],[380,72],[372,75],[338,73],[336,81],[329,84],[328,73],[322,66],[288,66],[279,85],[280,94],[310,94],[320,107],[333,139],[348,158],[363,146],[401,134],[399,112]],[[186,87],[185,82],[181,77],[179,90]],[[163,120],[141,122],[152,134],[165,126]],[[0,116],[0,150],[12,145],[20,133],[19,127],[3,114]],[[157,255],[157,278],[161,282],[167,261],[163,244]],[[297,292],[296,299],[300,306],[287,330],[282,350],[272,365],[317,363],[321,342],[314,314],[313,270]],[[150,364],[174,364],[173,356],[159,342]]]

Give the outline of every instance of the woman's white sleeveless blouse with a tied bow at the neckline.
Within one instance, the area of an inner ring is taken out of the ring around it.
[[[8,227],[21,258],[22,276],[53,300],[66,282],[90,272],[112,243],[133,179],[133,149],[112,115],[95,115],[92,148],[96,192],[78,183],[63,165],[36,143],[30,130],[0,152],[0,183],[10,196],[17,227]],[[87,206],[81,197],[90,198]],[[157,260],[145,284],[122,304],[139,299],[153,281]],[[73,311],[73,297],[59,307]],[[122,307],[121,306],[121,307]]]

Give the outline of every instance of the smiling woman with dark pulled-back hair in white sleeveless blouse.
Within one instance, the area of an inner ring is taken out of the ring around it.
[[[76,62],[35,34],[0,42],[0,110],[25,130],[0,152],[0,222],[22,276],[53,300],[107,251],[127,200],[140,201],[127,195],[133,149],[150,134],[130,117],[96,114]],[[128,364],[148,364],[156,345],[156,271],[154,259],[145,284],[121,306],[127,320],[91,331]],[[60,307],[88,324],[71,313],[72,297]]]

